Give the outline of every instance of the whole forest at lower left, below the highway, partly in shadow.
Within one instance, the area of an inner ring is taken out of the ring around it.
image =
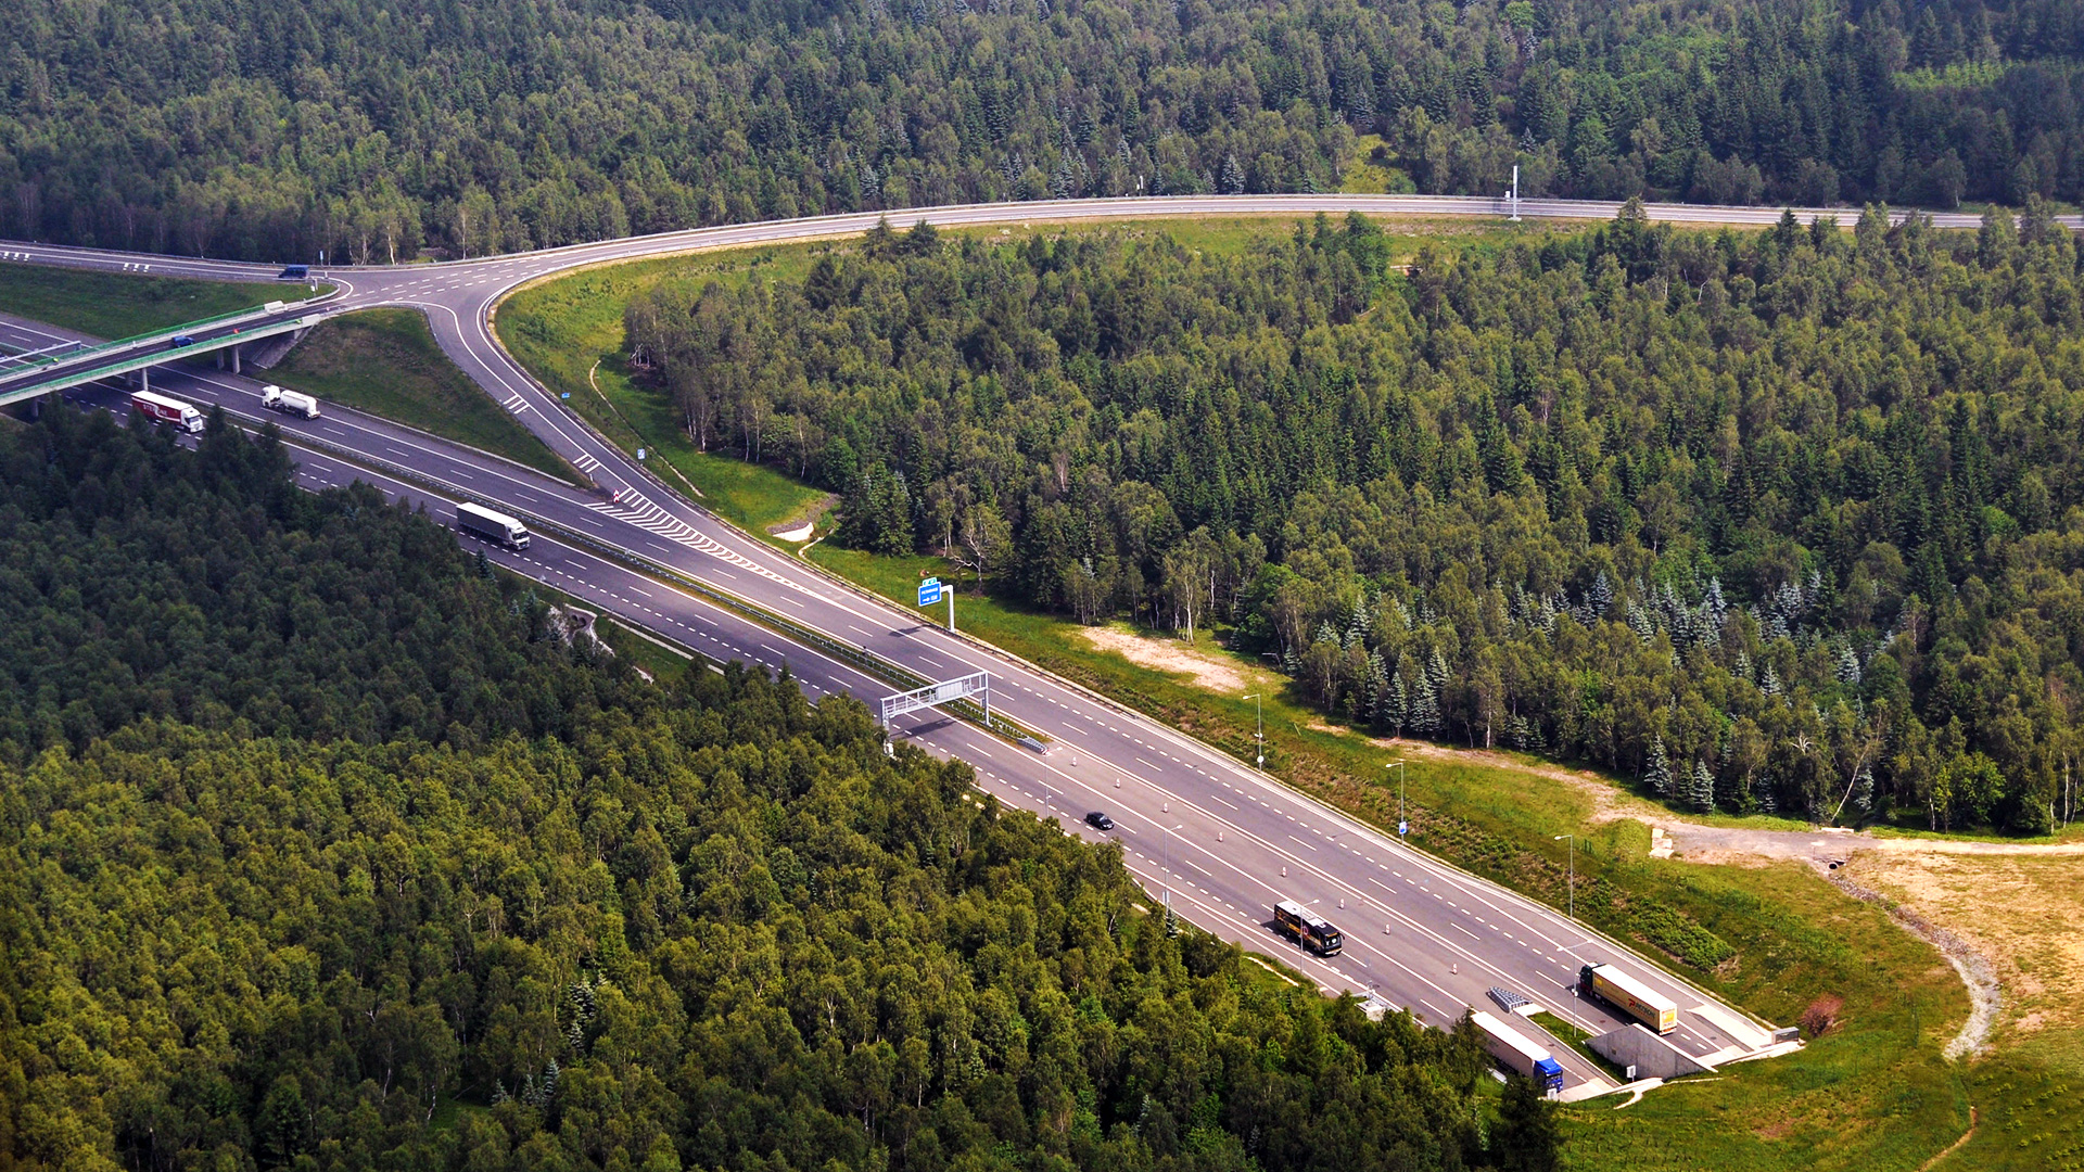
[[[0,478],[60,634],[0,665],[98,672],[98,724],[6,699],[0,1166],[1553,1168],[1467,1026],[1271,978],[854,701],[569,649],[271,440],[58,411]],[[300,684],[315,642],[348,669]]]

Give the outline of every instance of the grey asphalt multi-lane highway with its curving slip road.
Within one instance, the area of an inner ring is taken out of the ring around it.
[[[894,223],[990,225],[1073,219],[1161,219],[1182,215],[1500,215],[1498,200],[1380,196],[1240,196],[1175,200],[1073,200],[892,213]],[[1611,217],[1615,204],[1523,200],[1523,217]],[[1771,223],[1778,209],[1651,206],[1657,219]],[[1069,832],[1098,838],[1080,817],[1105,809],[1127,865],[1190,922],[1252,949],[1282,955],[1325,988],[1375,993],[1430,1024],[1446,1024],[1482,1005],[1492,986],[1548,1005],[1588,1032],[1626,1024],[1580,1001],[1571,982],[1580,963],[1619,961],[1680,1005],[1673,1043],[1709,1061],[1765,1049],[1767,1030],[1682,980],[1628,955],[1565,915],[1436,859],[1255,774],[1248,765],[1136,715],[1105,697],[1069,686],[990,646],[923,624],[921,615],[871,599],[815,567],[754,540],[679,498],[621,450],[571,415],[496,342],[492,315],[513,288],[579,265],[631,257],[777,244],[859,234],[879,217],[821,217],[696,229],[573,248],[402,269],[336,269],[333,311],[411,304],[427,313],[442,348],[496,400],[548,442],[592,484],[571,486],[498,457],[450,444],[336,405],[315,421],[277,419],[300,444],[300,473],[311,484],[367,480],[386,492],[425,503],[446,517],[463,496],[492,500],[548,521],[588,542],[625,551],[706,586],[752,599],[788,619],[942,680],[990,672],[992,707],[1050,738],[1044,753],[1009,744],[940,715],[900,717],[894,736],[961,757],[982,784],[1009,805],[1063,817]],[[152,273],[254,279],[275,267],[177,261],[98,250],[0,244],[0,263],[23,259]],[[256,300],[265,300],[256,296]],[[0,323],[0,344],[33,350],[63,332]],[[163,367],[154,384],[233,415],[260,419],[260,384],[200,369]],[[121,409],[113,390],[81,388],[73,398]],[[719,659],[788,663],[811,694],[852,692],[873,703],[890,692],[848,663],[792,644],[773,630],[671,586],[586,542],[538,536],[525,553],[488,551],[502,565],[548,582],[602,611]],[[1346,934],[1344,953],[1300,953],[1271,930],[1271,905],[1307,903]],[[1576,1084],[1603,1084],[1601,1072],[1555,1047]]]

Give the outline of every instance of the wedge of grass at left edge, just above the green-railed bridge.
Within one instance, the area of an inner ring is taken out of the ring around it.
[[[327,286],[321,286],[319,292],[325,290]],[[0,311],[96,338],[129,338],[271,300],[311,296],[315,296],[311,286],[292,282],[192,282],[50,265],[0,265]]]

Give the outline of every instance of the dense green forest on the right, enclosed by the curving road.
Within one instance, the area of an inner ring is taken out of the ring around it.
[[[842,540],[1215,617],[1359,726],[1696,809],[2069,817],[2084,277],[2044,204],[1386,252],[877,229],[625,327],[698,442],[844,492]]]

